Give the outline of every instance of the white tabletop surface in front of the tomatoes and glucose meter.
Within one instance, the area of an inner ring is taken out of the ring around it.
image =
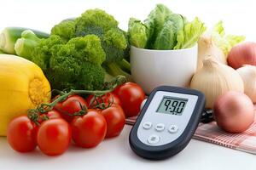
[[[148,161],[135,155],[128,142],[131,126],[126,125],[119,137],[105,139],[93,149],[71,145],[61,156],[44,156],[40,151],[20,154],[0,138],[0,169],[232,169],[255,170],[256,156],[192,139],[176,156],[164,161]]]

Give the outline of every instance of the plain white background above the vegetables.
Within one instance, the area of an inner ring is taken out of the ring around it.
[[[25,26],[42,31],[63,19],[79,16],[88,8],[102,8],[127,29],[130,17],[144,20],[156,3],[192,20],[198,16],[207,26],[224,21],[228,33],[245,35],[256,41],[256,2],[254,0],[1,0],[0,30],[5,26]]]

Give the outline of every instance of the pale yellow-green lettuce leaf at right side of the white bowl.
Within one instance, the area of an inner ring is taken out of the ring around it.
[[[198,41],[201,34],[206,31],[206,26],[201,20],[195,17],[195,20],[187,23],[183,30],[177,32],[177,45],[174,49],[191,48]]]

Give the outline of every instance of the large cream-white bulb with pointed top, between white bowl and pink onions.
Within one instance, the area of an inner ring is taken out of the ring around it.
[[[192,77],[190,88],[204,93],[207,99],[206,108],[213,108],[215,100],[224,92],[243,92],[243,82],[237,71],[209,56],[203,60],[201,70],[196,71]]]

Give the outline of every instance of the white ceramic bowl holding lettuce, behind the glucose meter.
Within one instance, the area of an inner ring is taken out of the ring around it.
[[[161,85],[188,87],[196,65],[197,45],[177,50],[131,46],[131,76],[146,94]]]

